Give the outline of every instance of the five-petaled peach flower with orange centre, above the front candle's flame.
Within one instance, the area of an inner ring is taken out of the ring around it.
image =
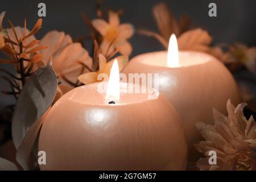
[[[129,56],[131,54],[133,48],[127,39],[133,36],[134,28],[130,23],[120,24],[118,14],[109,11],[109,22],[104,19],[94,19],[92,24],[103,37],[100,46],[101,53],[108,56],[114,49],[118,49],[122,55]]]

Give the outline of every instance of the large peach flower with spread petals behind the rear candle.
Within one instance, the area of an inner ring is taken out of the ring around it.
[[[179,50],[207,52],[225,61],[226,55],[219,47],[212,47],[212,37],[201,28],[191,29],[191,20],[187,15],[176,20],[165,3],[153,7],[153,15],[160,34],[147,30],[139,30],[143,35],[152,36],[159,40],[168,49],[168,43],[172,34],[177,36]]]

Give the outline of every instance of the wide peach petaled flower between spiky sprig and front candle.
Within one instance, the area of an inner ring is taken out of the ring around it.
[[[53,69],[59,77],[59,81],[64,84],[75,84],[77,77],[82,73],[88,72],[87,68],[92,68],[92,58],[88,51],[80,43],[73,43],[69,35],[64,32],[48,32],[40,42],[40,45],[48,46],[48,49],[41,51],[43,64],[47,64],[52,56]],[[74,86],[74,85],[73,85]]]

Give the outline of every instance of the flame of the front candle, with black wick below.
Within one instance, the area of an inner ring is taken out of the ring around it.
[[[112,68],[110,70],[106,98],[109,101],[118,101],[119,97],[120,97],[119,68],[118,68],[118,62],[115,59],[112,65]]]

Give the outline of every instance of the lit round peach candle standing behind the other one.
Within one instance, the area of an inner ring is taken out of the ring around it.
[[[196,122],[213,123],[213,108],[226,113],[226,101],[236,105],[240,94],[236,81],[215,57],[207,53],[178,51],[175,35],[167,51],[144,53],[134,57],[122,71],[159,73],[159,92],[171,102],[183,122],[188,140],[189,161],[196,161],[193,147],[201,140]]]

